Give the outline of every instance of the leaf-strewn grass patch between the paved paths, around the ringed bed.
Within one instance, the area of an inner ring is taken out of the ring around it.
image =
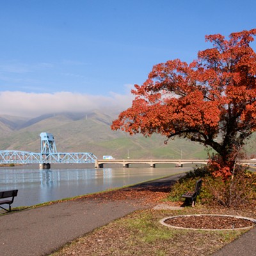
[[[241,231],[195,231],[168,228],[159,220],[182,211],[137,211],[98,228],[54,252],[63,255],[211,255],[241,236]]]

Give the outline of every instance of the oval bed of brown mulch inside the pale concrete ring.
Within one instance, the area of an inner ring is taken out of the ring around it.
[[[213,215],[179,216],[177,218],[169,218],[164,223],[175,227],[200,229],[244,228],[256,224],[246,219]]]

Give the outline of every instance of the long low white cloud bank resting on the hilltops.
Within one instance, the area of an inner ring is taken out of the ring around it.
[[[110,96],[87,95],[72,92],[26,93],[0,92],[0,115],[39,116],[47,113],[86,112],[93,109],[131,106],[133,95],[111,93]]]

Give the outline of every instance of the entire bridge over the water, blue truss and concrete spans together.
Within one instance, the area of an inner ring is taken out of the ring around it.
[[[103,168],[104,164],[121,164],[128,168],[131,164],[175,164],[182,167],[183,164],[207,164],[207,159],[97,159],[90,152],[57,152],[54,136],[51,133],[42,132],[41,152],[28,152],[19,150],[0,150],[0,164],[39,164],[42,169],[51,168],[51,163],[94,163],[95,168]],[[256,159],[240,160],[240,164],[256,165]]]

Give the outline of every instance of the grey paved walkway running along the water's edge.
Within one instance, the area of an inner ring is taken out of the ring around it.
[[[172,184],[179,175],[154,180],[139,186]],[[138,186],[136,186],[138,187]],[[86,198],[52,204],[0,216],[1,256],[49,255],[57,248],[123,216],[145,209],[140,200],[101,202]],[[228,244],[214,256],[256,255],[256,229]]]

